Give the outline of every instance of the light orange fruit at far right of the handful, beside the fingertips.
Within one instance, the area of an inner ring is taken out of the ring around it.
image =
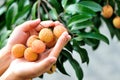
[[[67,31],[67,29],[64,26],[60,26],[60,25],[55,26],[53,29],[53,33],[57,38],[59,38],[64,31]]]

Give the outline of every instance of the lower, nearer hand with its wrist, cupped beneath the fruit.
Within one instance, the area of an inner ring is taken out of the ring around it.
[[[55,47],[42,53],[36,62],[28,62],[25,59],[15,59],[8,70],[3,74],[3,80],[25,80],[40,76],[46,72],[56,62],[60,51],[71,39],[67,32],[64,32],[58,39]]]

